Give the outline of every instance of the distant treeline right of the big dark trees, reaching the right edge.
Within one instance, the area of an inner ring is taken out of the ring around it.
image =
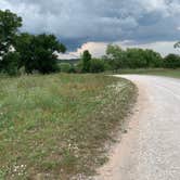
[[[89,51],[85,51],[76,64],[61,63],[62,70],[66,73],[101,73],[116,72],[124,68],[179,68],[180,55],[168,54],[163,57],[159,53],[149,49],[123,50],[118,46],[110,44],[106,55],[92,59]]]

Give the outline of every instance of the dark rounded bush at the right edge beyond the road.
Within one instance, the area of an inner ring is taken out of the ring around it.
[[[166,68],[178,68],[180,67],[180,56],[177,54],[169,54],[164,59],[164,66]]]

